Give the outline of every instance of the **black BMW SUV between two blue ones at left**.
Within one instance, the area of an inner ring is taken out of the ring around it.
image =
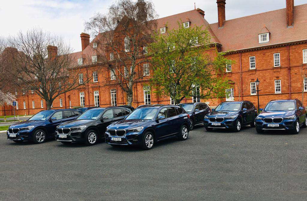
[[[56,140],[69,144],[84,142],[94,145],[104,138],[106,127],[130,114],[126,107],[97,107],[82,113],[77,119],[60,124],[56,129]]]

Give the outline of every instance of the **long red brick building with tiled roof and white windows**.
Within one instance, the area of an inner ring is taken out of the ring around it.
[[[250,100],[257,106],[255,81],[258,78],[260,107],[272,99],[299,98],[302,91],[307,91],[307,78],[302,75],[307,65],[307,4],[294,6],[294,0],[285,0],[286,8],[247,17],[225,20],[226,0],[217,0],[218,22],[209,24],[205,20],[205,12],[201,9],[160,18],[158,31],[164,34],[167,29],[177,27],[182,21],[184,26],[204,26],[212,35],[212,48],[207,50],[214,57],[215,50],[227,52],[225,57],[232,60],[225,66],[226,76],[232,81],[227,89],[231,97],[222,99],[200,100],[216,106],[225,100]],[[168,27],[165,27],[165,24]],[[91,71],[90,60],[99,61],[95,50],[97,38],[90,43],[88,34],[80,34],[82,51],[73,53],[75,65],[84,65],[84,73]],[[99,35],[97,36],[99,37]],[[108,75],[108,76],[106,76]],[[150,75],[149,75],[150,76]],[[108,77],[108,78],[106,78]],[[142,104],[169,104],[169,97],[157,97],[146,91],[144,78],[134,86],[134,102],[136,107]],[[201,90],[201,89],[200,89]],[[46,107],[45,101],[37,94],[18,94],[16,114],[34,114]],[[186,98],[182,102],[199,101]],[[304,95],[304,105],[307,97]],[[53,102],[53,108],[69,108],[74,106],[100,107],[126,104],[124,92],[111,80],[111,72],[101,69],[95,74],[91,83],[77,90],[60,95]],[[6,106],[6,115],[12,114],[12,107]],[[4,114],[2,107],[0,114]]]

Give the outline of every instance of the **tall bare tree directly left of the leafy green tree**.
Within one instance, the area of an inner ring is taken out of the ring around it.
[[[97,13],[85,22],[85,30],[97,35],[101,66],[125,91],[128,105],[133,101],[135,82],[146,76],[149,69],[146,59],[140,58],[147,53],[146,44],[157,30],[156,18],[152,2],[119,0],[109,7],[107,14]]]

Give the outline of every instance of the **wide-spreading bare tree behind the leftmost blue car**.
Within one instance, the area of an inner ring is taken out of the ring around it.
[[[9,39],[10,72],[23,93],[29,90],[46,101],[47,109],[60,94],[84,85],[92,78],[77,66],[72,49],[63,38],[39,28],[21,31]]]

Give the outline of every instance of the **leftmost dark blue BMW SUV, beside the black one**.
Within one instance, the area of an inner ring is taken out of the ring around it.
[[[33,141],[43,143],[48,138],[54,139],[54,131],[60,123],[76,119],[81,112],[74,109],[43,110],[29,120],[18,122],[9,127],[7,139],[14,142]]]

